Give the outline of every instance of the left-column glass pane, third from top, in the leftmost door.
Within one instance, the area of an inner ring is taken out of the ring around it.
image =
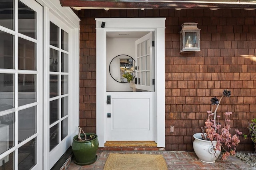
[[[14,108],[14,74],[0,74],[0,111]]]

